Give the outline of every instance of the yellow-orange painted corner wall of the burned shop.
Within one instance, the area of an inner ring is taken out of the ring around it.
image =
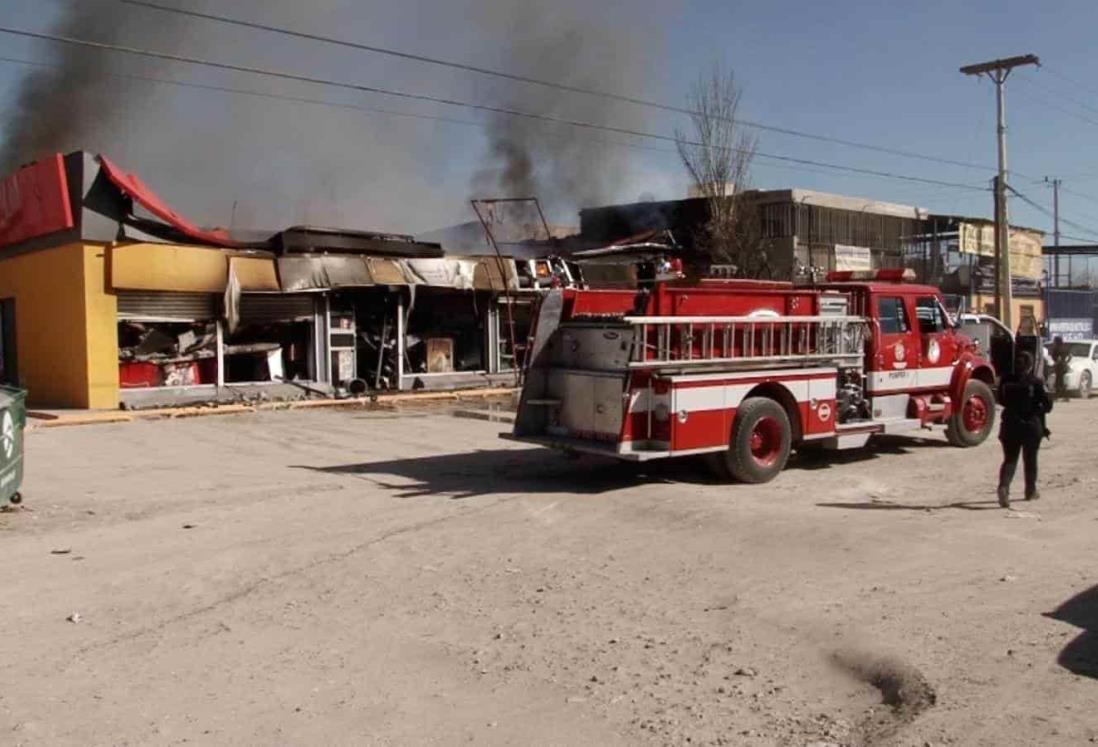
[[[0,255],[0,298],[15,300],[20,382],[37,408],[116,408],[117,306],[104,248],[67,244]]]

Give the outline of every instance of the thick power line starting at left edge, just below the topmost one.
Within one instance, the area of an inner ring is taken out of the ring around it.
[[[401,99],[410,99],[410,100],[414,100],[414,101],[428,101],[428,102],[432,102],[432,103],[439,103],[439,104],[444,104],[444,105],[448,105],[448,107],[459,107],[459,108],[463,108],[463,109],[472,109],[472,110],[475,110],[475,111],[491,112],[491,113],[494,113],[494,114],[503,114],[503,115],[506,115],[506,116],[515,116],[515,118],[519,118],[519,119],[527,119],[527,120],[541,121],[541,122],[551,122],[551,123],[554,123],[554,124],[563,124],[563,125],[567,125],[567,126],[578,127],[578,129],[583,129],[583,130],[594,130],[594,131],[601,131],[601,132],[613,132],[613,133],[616,133],[616,134],[619,134],[619,135],[629,135],[629,136],[632,136],[632,137],[645,137],[645,138],[649,138],[649,140],[656,140],[656,141],[661,141],[661,142],[670,142],[670,143],[676,143],[676,144],[680,142],[677,138],[675,138],[675,137],[673,137],[671,135],[660,135],[658,133],[645,132],[642,130],[632,130],[632,129],[629,129],[629,127],[617,127],[617,126],[605,125],[605,124],[596,124],[594,122],[584,122],[582,120],[571,120],[571,119],[567,119],[567,118],[554,116],[554,115],[551,115],[551,114],[538,114],[538,113],[534,113],[534,112],[526,112],[526,111],[520,111],[520,110],[516,110],[516,109],[507,109],[507,108],[503,108],[503,107],[491,107],[491,105],[488,105],[488,104],[471,103],[471,102],[467,102],[467,101],[460,101],[460,100],[457,100],[457,99],[447,99],[447,98],[442,98],[442,97],[427,96],[427,94],[424,94],[424,93],[411,93],[411,92],[407,92],[407,91],[396,91],[396,90],[391,90],[391,89],[379,88],[379,87],[376,87],[376,86],[366,86],[366,85],[362,85],[362,83],[350,83],[350,82],[345,82],[345,81],[330,80],[330,79],[326,79],[326,78],[317,78],[317,77],[314,77],[314,76],[299,75],[299,74],[295,74],[295,73],[287,73],[284,70],[270,70],[270,69],[265,69],[265,68],[251,67],[251,66],[247,66],[247,65],[234,65],[234,64],[231,64],[231,63],[219,63],[219,62],[214,62],[214,60],[202,59],[202,58],[199,58],[199,57],[189,57],[187,55],[177,55],[177,54],[170,54],[170,53],[166,53],[166,52],[156,52],[156,51],[153,51],[153,49],[142,49],[139,47],[131,47],[131,46],[125,46],[125,45],[121,45],[121,44],[108,44],[105,42],[92,42],[92,41],[89,41],[89,40],[79,40],[79,38],[72,38],[72,37],[69,37],[69,36],[59,36],[59,35],[56,35],[56,34],[45,34],[45,33],[41,33],[41,32],[25,31],[25,30],[22,30],[22,29],[11,29],[9,26],[0,26],[0,32],[7,33],[7,34],[12,34],[12,35],[15,35],[15,36],[25,36],[25,37],[29,37],[29,38],[37,38],[37,40],[44,40],[44,41],[49,41],[49,42],[59,42],[59,43],[63,43],[63,44],[69,44],[69,45],[75,45],[75,46],[83,46],[83,47],[89,47],[89,48],[92,48],[92,49],[105,49],[105,51],[109,51],[109,52],[121,52],[123,54],[137,55],[137,56],[142,56],[142,57],[152,57],[154,59],[165,59],[165,60],[176,62],[176,63],[186,63],[188,65],[198,65],[198,66],[202,66],[202,67],[211,67],[211,68],[221,69],[221,70],[232,70],[232,71],[235,71],[235,73],[248,73],[248,74],[251,74],[251,75],[259,75],[259,76],[266,76],[266,77],[271,77],[271,78],[280,78],[280,79],[283,79],[283,80],[293,80],[293,81],[298,81],[298,82],[317,83],[317,85],[321,85],[321,86],[328,86],[328,87],[333,87],[333,88],[344,88],[344,89],[348,89],[348,90],[352,90],[352,91],[359,91],[359,92],[366,92],[366,93],[380,93],[380,94],[383,94],[383,96],[392,96],[392,97],[396,97],[396,98],[401,98]],[[716,146],[706,145],[704,143],[698,143],[698,142],[694,142],[694,141],[683,141],[683,144],[684,145],[688,145],[691,147],[702,147],[702,148],[715,148],[716,147]],[[858,167],[853,167],[853,166],[842,166],[840,164],[829,164],[829,163],[826,163],[826,161],[811,160],[811,159],[808,159],[808,158],[795,158],[795,157],[792,157],[792,156],[782,156],[782,155],[776,155],[776,154],[762,153],[762,152],[758,152],[758,150],[753,152],[753,150],[744,149],[744,148],[721,147],[721,148],[718,148],[718,149],[729,150],[729,152],[740,153],[740,154],[751,153],[751,155],[753,155],[753,156],[755,156],[758,158],[765,158],[765,159],[770,159],[770,160],[776,160],[776,161],[783,161],[783,163],[789,163],[789,164],[800,164],[800,165],[804,165],[804,166],[818,166],[818,167],[822,167],[822,168],[831,168],[831,169],[837,169],[837,170],[841,170],[841,171],[850,171],[852,174],[862,174],[862,175],[865,175],[865,176],[882,177],[882,178],[888,178],[888,179],[898,179],[898,180],[901,180],[901,181],[912,181],[912,182],[919,182],[919,183],[935,185],[935,186],[940,186],[940,187],[956,187],[959,189],[963,188],[963,189],[973,189],[973,190],[983,191],[983,188],[972,187],[970,185],[962,185],[962,183],[953,182],[953,181],[945,181],[945,180],[941,180],[941,179],[930,179],[930,178],[915,177],[915,176],[909,176],[909,175],[904,175],[904,174],[895,174],[895,172],[892,172],[892,171],[881,171],[881,170],[876,170],[876,169],[858,168]]]

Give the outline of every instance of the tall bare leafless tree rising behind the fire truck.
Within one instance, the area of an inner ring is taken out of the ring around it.
[[[753,275],[765,263],[765,253],[757,211],[742,197],[758,138],[737,121],[741,94],[732,71],[714,65],[691,88],[692,132],[676,130],[675,144],[697,194],[707,203],[708,221],[696,237],[698,248],[712,261],[732,263],[741,274]]]

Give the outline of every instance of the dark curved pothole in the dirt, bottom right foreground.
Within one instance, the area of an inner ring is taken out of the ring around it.
[[[922,672],[895,656],[864,649],[832,654],[834,664],[881,692],[887,709],[870,709],[855,729],[855,744],[873,745],[893,736],[938,702],[938,694]]]

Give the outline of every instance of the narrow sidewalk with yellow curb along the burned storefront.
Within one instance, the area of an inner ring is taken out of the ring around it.
[[[484,400],[513,397],[517,389],[464,389],[449,392],[394,392],[355,399],[296,400],[293,402],[258,402],[255,404],[210,404],[184,408],[157,408],[150,410],[29,410],[26,430],[57,428],[103,423],[131,423],[134,421],[171,417],[202,417],[208,415],[238,415],[272,410],[313,410],[317,408],[370,408],[418,402]]]

